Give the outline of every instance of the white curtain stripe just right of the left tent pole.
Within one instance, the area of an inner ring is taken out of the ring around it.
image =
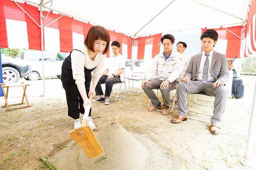
[[[60,51],[60,31],[58,29],[45,27],[44,44],[46,51]]]

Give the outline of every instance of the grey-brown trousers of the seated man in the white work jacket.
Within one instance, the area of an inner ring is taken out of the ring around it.
[[[144,92],[146,93],[146,95],[148,96],[148,98],[150,98],[152,105],[153,106],[157,106],[160,101],[158,99],[158,97],[156,97],[156,94],[154,93],[154,91],[152,89],[158,89],[160,88],[160,84],[163,82],[164,80],[159,80],[158,78],[154,78],[152,80],[150,80],[148,82],[148,86],[146,86],[146,84],[144,84]],[[160,92],[162,94],[162,98],[164,100],[164,106],[167,106],[169,108],[170,106],[170,91],[173,90],[174,88],[176,88],[178,84],[178,81],[174,80],[174,82],[171,82],[170,84],[168,84],[168,87],[165,89],[160,89]]]

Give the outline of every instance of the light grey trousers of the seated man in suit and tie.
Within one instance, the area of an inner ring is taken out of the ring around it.
[[[202,83],[202,80],[194,80],[188,83],[180,82],[177,88],[178,96],[178,111],[180,116],[187,115],[186,99],[187,93],[199,93],[203,92],[209,96],[215,96],[214,110],[211,122],[220,125],[222,120],[222,114],[225,110],[226,102],[228,99],[228,90],[226,86],[218,86],[214,88],[212,86],[214,82]]]

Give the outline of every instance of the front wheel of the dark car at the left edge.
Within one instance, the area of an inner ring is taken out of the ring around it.
[[[4,83],[18,82],[20,79],[20,73],[15,68],[4,67],[2,68],[2,71]]]

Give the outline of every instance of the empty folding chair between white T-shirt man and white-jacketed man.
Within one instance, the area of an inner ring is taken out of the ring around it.
[[[139,93],[144,93],[144,91],[141,88],[141,83],[146,78],[146,72],[142,72],[142,70],[144,70],[143,68],[140,68],[140,71],[134,71],[134,70],[138,70],[138,69],[134,67],[131,74],[128,73],[128,76],[126,78],[128,80],[127,91],[130,90],[130,81],[132,81],[132,92],[127,92],[127,94],[138,95]],[[139,84],[139,90],[134,89],[134,81],[137,82],[137,85]]]

